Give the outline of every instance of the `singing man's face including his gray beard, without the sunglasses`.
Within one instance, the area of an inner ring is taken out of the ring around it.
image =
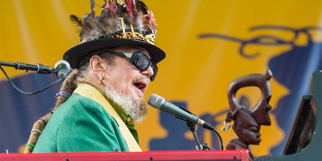
[[[115,52],[133,53],[140,51],[149,57],[149,53],[139,47],[118,47]],[[149,67],[146,71],[136,68],[130,58],[115,55],[114,64],[106,72],[107,83],[105,93],[114,102],[120,105],[132,118],[141,122],[147,114],[147,105],[143,99],[149,76],[153,70]]]

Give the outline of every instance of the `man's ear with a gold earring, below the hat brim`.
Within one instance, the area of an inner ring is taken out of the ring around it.
[[[91,66],[92,71],[98,77],[100,77],[101,75],[103,77],[105,77],[105,73],[106,73],[108,65],[106,65],[106,61],[102,57],[100,57],[98,55],[92,56],[90,59],[90,66]]]

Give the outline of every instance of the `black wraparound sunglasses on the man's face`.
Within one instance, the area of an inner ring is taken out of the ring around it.
[[[150,76],[150,80],[151,82],[154,81],[157,73],[157,66],[144,53],[139,51],[133,52],[133,54],[126,53],[126,52],[114,52],[114,51],[109,51],[109,52],[119,56],[129,57],[131,60],[131,63],[141,71],[146,71],[151,66],[153,70],[153,75]]]

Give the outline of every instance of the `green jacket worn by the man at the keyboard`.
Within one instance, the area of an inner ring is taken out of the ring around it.
[[[118,107],[115,110],[126,122],[123,109]],[[126,125],[138,142],[134,122]],[[73,93],[53,113],[33,152],[76,151],[129,151],[129,148],[117,122],[102,105]]]

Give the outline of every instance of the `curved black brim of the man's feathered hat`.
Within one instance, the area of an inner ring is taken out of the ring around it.
[[[79,68],[79,63],[87,55],[92,54],[101,49],[106,49],[106,48],[116,47],[121,45],[122,46],[135,45],[135,46],[143,47],[149,52],[151,56],[151,61],[154,62],[155,64],[160,62],[164,58],[166,58],[166,53],[162,49],[144,41],[139,41],[134,39],[123,39],[123,38],[103,38],[103,39],[97,39],[97,40],[81,43],[70,48],[64,53],[63,59],[70,64],[71,68],[75,69],[75,68]]]

